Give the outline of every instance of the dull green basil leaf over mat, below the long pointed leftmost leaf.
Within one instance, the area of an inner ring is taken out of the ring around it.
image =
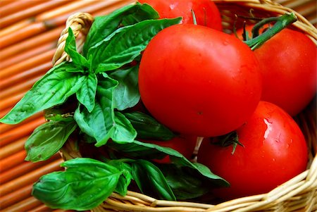
[[[73,118],[49,121],[37,127],[25,142],[26,161],[45,161],[61,149],[68,137],[76,129]]]

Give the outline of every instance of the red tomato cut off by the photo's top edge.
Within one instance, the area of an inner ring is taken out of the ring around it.
[[[197,24],[222,30],[221,17],[216,4],[211,0],[139,0],[158,11],[160,18],[182,17],[182,23],[193,23],[194,11]]]

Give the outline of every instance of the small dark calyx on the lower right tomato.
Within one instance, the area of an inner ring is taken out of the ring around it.
[[[232,131],[232,132],[229,132],[228,134],[213,138],[213,142],[211,142],[211,144],[216,144],[222,147],[232,145],[231,154],[235,153],[235,149],[237,148],[237,145],[244,147],[244,145],[239,141],[239,137],[236,131]]]

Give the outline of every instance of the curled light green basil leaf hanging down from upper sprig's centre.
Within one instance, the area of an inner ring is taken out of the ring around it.
[[[89,113],[87,108],[79,106],[75,111],[74,118],[82,132],[94,137],[97,146],[106,144],[112,137],[115,115],[113,111],[113,89],[118,85],[116,80],[104,78],[99,80],[97,94],[93,110]]]

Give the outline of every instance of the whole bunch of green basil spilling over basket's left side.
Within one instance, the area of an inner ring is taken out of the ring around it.
[[[168,200],[198,197],[208,192],[206,185],[211,182],[228,185],[178,151],[137,141],[174,137],[173,132],[151,116],[126,111],[140,99],[137,80],[140,53],[154,35],[181,20],[158,18],[158,13],[147,4],[125,6],[97,17],[82,54],[78,53],[69,28],[65,51],[71,61],[51,68],[1,118],[1,123],[17,124],[45,111],[49,122],[37,127],[25,143],[27,161],[50,158],[75,132],[95,148],[106,146],[112,152],[110,158],[101,161],[93,158],[66,161],[61,164],[65,171],[42,176],[32,194],[51,208],[94,208],[111,192],[125,195],[131,180],[135,180],[141,192]],[[166,155],[173,163],[160,165],[151,161]]]

